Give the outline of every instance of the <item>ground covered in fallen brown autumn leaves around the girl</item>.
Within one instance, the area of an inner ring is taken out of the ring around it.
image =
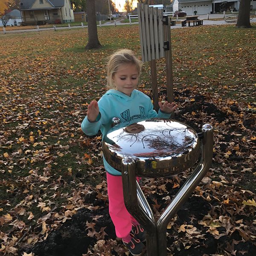
[[[127,255],[108,215],[101,134],[80,124],[105,92],[106,58],[140,55],[138,26],[98,29],[104,46],[85,51],[86,29],[0,35],[0,253]],[[172,30],[175,118],[214,127],[212,167],[168,226],[174,256],[256,255],[256,29]],[[166,99],[164,60],[157,61]],[[145,63],[139,89],[151,96]],[[157,216],[191,170],[143,179]]]

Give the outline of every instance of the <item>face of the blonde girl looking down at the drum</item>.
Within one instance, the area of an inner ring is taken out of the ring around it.
[[[116,90],[131,96],[139,82],[139,72],[135,64],[122,64],[112,76]]]

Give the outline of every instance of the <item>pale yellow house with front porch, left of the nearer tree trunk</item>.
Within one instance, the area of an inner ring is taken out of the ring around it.
[[[70,0],[20,0],[23,25],[74,21]]]

